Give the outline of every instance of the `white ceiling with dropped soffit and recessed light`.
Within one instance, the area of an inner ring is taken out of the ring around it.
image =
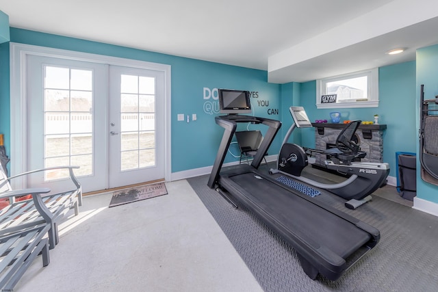
[[[0,0],[10,26],[309,81],[415,59],[436,0]],[[401,55],[385,52],[407,48]]]

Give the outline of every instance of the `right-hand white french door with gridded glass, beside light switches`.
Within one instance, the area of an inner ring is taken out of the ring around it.
[[[164,178],[164,72],[110,66],[109,186]]]

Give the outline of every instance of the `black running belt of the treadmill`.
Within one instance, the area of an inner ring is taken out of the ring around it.
[[[331,212],[322,212],[318,205],[254,172],[230,176],[229,179],[239,187],[244,186],[242,194],[255,206],[289,233],[306,239],[315,249],[329,249],[345,259],[371,238],[355,224]]]

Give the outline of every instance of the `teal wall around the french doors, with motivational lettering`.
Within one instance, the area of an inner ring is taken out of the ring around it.
[[[171,155],[172,172],[211,166],[218,150],[222,128],[214,122],[212,113],[205,110],[205,103],[216,105],[217,100],[204,98],[204,88],[233,88],[250,90],[253,114],[266,118],[280,119],[280,85],[267,82],[267,72],[237,66],[228,66],[196,59],[188,59],[153,53],[111,44],[90,42],[43,34],[25,29],[10,29],[11,42],[33,44],[42,47],[80,51],[172,66],[171,101]],[[10,71],[9,43],[0,44],[0,133],[5,134],[5,146],[10,149]],[[177,114],[197,115],[197,120],[187,123],[177,121]],[[257,125],[242,125],[245,129],[261,129]],[[281,139],[276,138],[268,152],[279,152]],[[237,149],[235,149],[237,150]],[[235,154],[238,154],[236,152]],[[13,159],[13,157],[11,157]],[[236,161],[228,155],[225,162]]]

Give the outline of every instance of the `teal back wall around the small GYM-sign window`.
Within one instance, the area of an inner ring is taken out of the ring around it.
[[[389,163],[389,175],[396,176],[396,152],[415,152],[418,141],[415,127],[415,62],[381,67],[378,70],[378,79],[378,107],[317,109],[316,81],[301,84],[300,105],[305,107],[312,121],[329,120],[331,111],[340,111],[342,120],[373,120],[374,114],[378,114],[378,122],[387,124],[383,135],[383,161]],[[315,133],[310,130],[299,131],[302,132],[302,145],[313,148]]]

